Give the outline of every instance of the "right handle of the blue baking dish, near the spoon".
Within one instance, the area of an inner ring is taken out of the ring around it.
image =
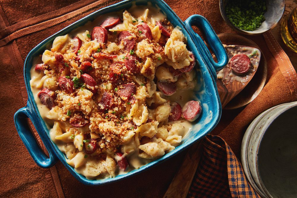
[[[206,18],[201,15],[192,15],[187,20],[184,21],[187,30],[189,31],[192,38],[195,39],[195,44],[198,45],[197,47],[203,51],[202,58],[205,62],[210,62],[213,66],[210,68],[212,70],[212,75],[214,79],[217,79],[217,71],[223,69],[224,66],[227,65],[229,58],[225,48],[222,45],[222,42],[217,37],[217,34],[214,32],[214,29],[211,27],[210,23]],[[214,55],[217,57],[217,62],[211,57],[211,54],[206,47],[205,43],[201,39],[201,37],[194,32],[192,26],[197,26],[203,34],[203,37],[206,43],[210,46],[211,50],[213,51]]]

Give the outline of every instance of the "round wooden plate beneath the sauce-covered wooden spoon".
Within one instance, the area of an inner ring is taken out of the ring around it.
[[[223,33],[218,34],[218,37],[222,43],[226,45],[245,45],[261,50],[255,42],[238,34]],[[224,109],[236,109],[252,102],[262,91],[266,79],[267,63],[261,51],[260,64],[254,77],[249,84],[247,84],[247,86],[224,107]]]

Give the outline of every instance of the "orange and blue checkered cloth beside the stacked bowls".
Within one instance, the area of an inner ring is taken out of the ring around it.
[[[222,138],[207,135],[202,144],[203,154],[187,197],[260,197]]]

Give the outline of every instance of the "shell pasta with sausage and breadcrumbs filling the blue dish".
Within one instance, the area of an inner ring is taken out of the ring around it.
[[[175,149],[201,106],[181,94],[194,95],[195,57],[158,10],[125,10],[83,27],[54,39],[30,85],[51,140],[94,180]]]

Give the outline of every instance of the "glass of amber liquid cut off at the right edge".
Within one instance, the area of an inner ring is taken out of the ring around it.
[[[285,44],[297,53],[297,7],[282,22],[281,35]]]

